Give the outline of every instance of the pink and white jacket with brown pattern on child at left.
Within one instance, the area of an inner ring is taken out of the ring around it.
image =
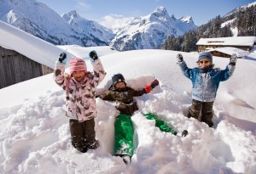
[[[55,82],[66,91],[66,115],[80,122],[96,117],[96,87],[106,76],[100,59],[92,62],[94,73],[88,72],[84,81],[64,76],[65,64],[55,64]]]

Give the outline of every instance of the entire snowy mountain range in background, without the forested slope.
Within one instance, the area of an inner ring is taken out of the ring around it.
[[[171,34],[180,36],[196,28],[190,16],[177,20],[159,7],[147,16],[121,20],[110,30],[76,11],[60,16],[36,0],[1,0],[0,20],[55,45],[111,45],[121,51],[160,48]]]

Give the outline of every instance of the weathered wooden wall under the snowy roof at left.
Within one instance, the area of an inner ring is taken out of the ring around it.
[[[14,50],[0,47],[0,88],[49,74],[53,70]]]

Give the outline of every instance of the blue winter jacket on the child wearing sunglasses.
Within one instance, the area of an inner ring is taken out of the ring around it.
[[[225,70],[212,68],[207,72],[202,72],[198,68],[189,69],[184,61],[178,65],[183,71],[183,75],[192,81],[192,98],[201,102],[213,102],[219,82],[228,80],[236,67],[235,65],[227,65]]]

